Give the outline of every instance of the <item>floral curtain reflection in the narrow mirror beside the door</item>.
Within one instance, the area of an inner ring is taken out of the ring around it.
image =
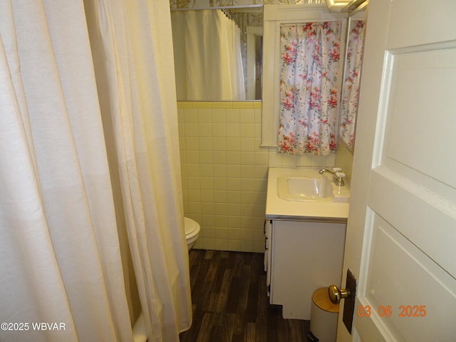
[[[363,63],[366,21],[352,21],[348,32],[345,79],[341,110],[341,138],[348,146],[354,145],[356,113],[358,113],[361,64]]]

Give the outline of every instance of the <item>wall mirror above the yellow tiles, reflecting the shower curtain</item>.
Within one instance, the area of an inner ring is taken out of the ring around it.
[[[179,101],[261,100],[263,7],[172,9]]]

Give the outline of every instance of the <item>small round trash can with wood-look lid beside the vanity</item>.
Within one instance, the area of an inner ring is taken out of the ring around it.
[[[336,342],[339,304],[329,299],[328,288],[321,287],[312,294],[311,326],[308,342]]]

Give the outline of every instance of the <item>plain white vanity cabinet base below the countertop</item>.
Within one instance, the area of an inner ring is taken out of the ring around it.
[[[312,293],[341,285],[346,222],[302,219],[266,219],[264,265],[269,303],[284,318],[309,320]]]

